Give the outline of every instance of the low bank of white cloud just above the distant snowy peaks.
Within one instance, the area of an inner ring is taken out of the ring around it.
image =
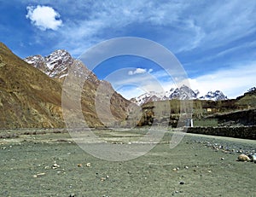
[[[246,67],[246,69],[245,69]],[[256,86],[256,61],[247,65],[237,65],[236,67],[221,69],[215,72],[202,74],[197,78],[189,78],[189,86],[192,90],[199,90],[200,95],[207,94],[208,91],[221,90],[228,98],[241,96],[245,91]],[[165,78],[165,79],[163,79]],[[141,91],[162,92],[176,88],[172,78],[166,78],[166,72],[143,73],[142,75],[132,75],[129,78],[115,78],[111,81],[113,84],[137,84],[137,87],[119,90],[119,92],[130,99],[140,96]]]

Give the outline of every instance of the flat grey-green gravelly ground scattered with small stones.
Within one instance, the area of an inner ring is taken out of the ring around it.
[[[126,143],[143,130],[96,134]],[[0,196],[256,196],[256,164],[236,161],[255,141],[187,134],[170,149],[171,136],[128,161],[93,157],[68,133],[0,139]]]

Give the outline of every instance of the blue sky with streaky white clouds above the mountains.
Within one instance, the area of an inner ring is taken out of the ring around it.
[[[55,49],[67,49],[79,58],[108,39],[145,38],[172,52],[190,87],[201,95],[222,90],[236,98],[256,86],[253,0],[0,0],[0,12],[0,42],[21,58],[49,55]],[[113,87],[122,84],[116,89],[126,98],[176,85],[172,73],[136,55],[112,57],[93,71]]]

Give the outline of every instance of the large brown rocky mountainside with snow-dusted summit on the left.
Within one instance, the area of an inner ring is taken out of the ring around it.
[[[23,61],[0,43],[0,128],[65,127],[61,109],[62,82],[73,61],[76,60],[65,50],[56,50],[47,57],[35,55]],[[77,65],[84,72],[90,72],[81,62]],[[111,84],[98,80],[90,72],[90,80],[83,86],[81,106],[84,119],[92,127],[102,126],[95,107],[100,84],[113,92],[110,108],[115,119],[125,119],[131,104],[114,92]],[[103,116],[108,119],[109,114]]]

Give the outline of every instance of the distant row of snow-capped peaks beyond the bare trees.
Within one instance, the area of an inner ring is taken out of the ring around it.
[[[148,93],[144,93],[141,96],[137,96],[135,98],[131,98],[130,101],[136,103],[141,106],[148,101],[166,101],[172,99],[179,100],[193,100],[193,99],[201,99],[201,100],[212,100],[212,101],[220,101],[228,99],[227,96],[224,96],[223,92],[220,90],[216,90],[214,92],[209,91],[205,96],[199,96],[199,90],[191,90],[188,86],[183,85],[177,89],[171,89],[166,92],[154,92],[150,91]]]

